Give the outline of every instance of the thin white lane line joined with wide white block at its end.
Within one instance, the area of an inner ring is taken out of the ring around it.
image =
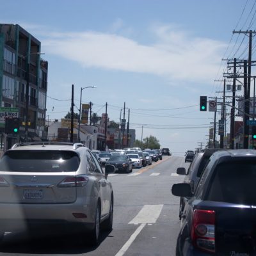
[[[163,209],[163,204],[159,205],[144,205],[140,212],[135,216],[129,224],[140,224],[140,226],[135,230],[131,235],[129,240],[124,244],[124,246],[116,253],[115,256],[123,256],[125,252],[129,249],[132,242],[136,239],[138,234],[140,234],[143,227],[148,223],[156,223],[157,218],[159,217]]]

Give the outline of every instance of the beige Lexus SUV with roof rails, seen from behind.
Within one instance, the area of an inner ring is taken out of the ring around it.
[[[81,143],[17,143],[0,161],[0,239],[4,232],[59,231],[99,242],[113,223],[113,188]],[[52,227],[52,228],[51,228]],[[87,234],[88,233],[88,234]]]

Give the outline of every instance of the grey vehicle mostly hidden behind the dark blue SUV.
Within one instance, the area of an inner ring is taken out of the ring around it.
[[[184,177],[184,183],[188,183],[191,186],[192,191],[195,191],[195,188],[198,184],[198,181],[204,172],[204,168],[209,161],[209,158],[211,155],[218,151],[223,150],[220,148],[208,148],[205,149],[204,152],[199,152],[195,155],[193,162],[189,165],[188,172],[186,172],[186,169],[184,167],[177,168],[177,174],[179,175],[186,175]],[[186,198],[184,196],[180,197],[180,207],[179,207],[179,218],[181,219],[182,212],[184,210],[184,205],[186,202],[188,202],[189,198]]]

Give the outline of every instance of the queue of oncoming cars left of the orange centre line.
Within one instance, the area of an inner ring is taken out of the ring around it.
[[[160,149],[146,148],[124,148],[115,149],[108,152],[92,150],[95,157],[98,159],[101,166],[106,164],[114,165],[116,172],[132,172],[132,168],[141,168],[151,165],[152,161],[157,162],[163,159],[163,154]],[[169,154],[170,156],[170,154]]]

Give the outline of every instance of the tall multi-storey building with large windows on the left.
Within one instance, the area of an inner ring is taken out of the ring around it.
[[[41,43],[15,24],[0,24],[0,131],[5,118],[19,117],[18,136],[4,134],[7,143],[47,139],[45,112],[47,61]]]

